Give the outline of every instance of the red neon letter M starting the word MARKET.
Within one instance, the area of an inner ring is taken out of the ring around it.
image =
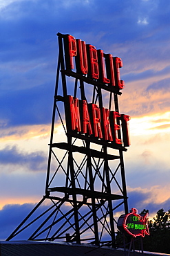
[[[73,96],[69,95],[69,102],[70,102],[72,130],[81,131],[81,118],[80,118],[78,98],[73,98]]]

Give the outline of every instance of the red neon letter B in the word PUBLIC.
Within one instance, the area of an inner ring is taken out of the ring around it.
[[[88,54],[89,54],[89,64],[91,68],[92,78],[98,79],[99,77],[99,71],[98,71],[98,55],[97,50],[95,46],[92,46],[91,44],[87,44]]]

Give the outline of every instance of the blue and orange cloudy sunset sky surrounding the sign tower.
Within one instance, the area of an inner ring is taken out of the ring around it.
[[[0,0],[0,239],[44,194],[58,32],[123,60],[129,208],[170,209],[169,12],[166,0]]]

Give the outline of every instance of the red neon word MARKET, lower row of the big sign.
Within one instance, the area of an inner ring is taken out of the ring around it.
[[[128,122],[130,117],[120,114],[116,111],[109,111],[104,107],[100,109],[98,105],[90,103],[86,100],[78,100],[72,95],[68,95],[68,103],[70,106],[71,129],[81,134],[94,136],[124,147],[129,147],[129,129]],[[118,131],[121,121],[123,141],[119,138]]]

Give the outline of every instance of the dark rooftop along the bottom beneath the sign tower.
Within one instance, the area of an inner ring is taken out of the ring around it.
[[[149,253],[145,252],[145,255],[161,255],[164,253]],[[93,246],[89,244],[71,244],[67,242],[44,242],[44,241],[0,241],[0,255],[1,256],[124,256],[123,250],[115,250],[113,248],[107,248],[103,246]],[[139,253],[136,253],[139,255]],[[134,256],[131,252],[129,256]],[[170,256],[170,255],[168,255]]]

